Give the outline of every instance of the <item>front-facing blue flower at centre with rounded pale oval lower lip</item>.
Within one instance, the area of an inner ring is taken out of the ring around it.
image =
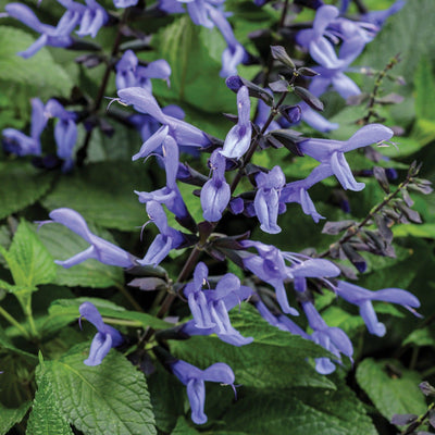
[[[221,149],[214,150],[210,157],[213,174],[203,185],[200,197],[203,219],[209,222],[220,221],[229,202],[231,189],[225,181],[225,166],[226,159],[221,154]]]

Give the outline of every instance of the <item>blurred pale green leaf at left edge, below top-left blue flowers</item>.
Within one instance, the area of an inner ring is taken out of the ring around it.
[[[16,54],[34,42],[35,39],[24,30],[0,27],[1,79],[34,87],[38,89],[39,95],[49,89],[50,96],[55,92],[67,97],[73,84],[65,71],[53,61],[47,48],[42,48],[29,59]]]

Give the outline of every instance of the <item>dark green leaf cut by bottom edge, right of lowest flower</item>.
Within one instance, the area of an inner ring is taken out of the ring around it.
[[[247,389],[224,417],[224,433],[291,435],[376,435],[364,408],[343,382],[336,390]],[[223,434],[222,434],[223,435]]]

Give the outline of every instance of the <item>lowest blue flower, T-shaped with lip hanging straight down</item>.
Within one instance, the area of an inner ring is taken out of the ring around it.
[[[200,370],[186,361],[178,360],[171,364],[171,370],[187,387],[187,397],[189,398],[191,408],[191,420],[196,424],[203,424],[207,422],[207,415],[204,414],[204,381],[233,386],[235,380],[231,366],[223,362],[216,362],[206,370]]]

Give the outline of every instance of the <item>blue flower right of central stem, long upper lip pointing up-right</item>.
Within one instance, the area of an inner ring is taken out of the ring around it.
[[[372,144],[381,144],[390,139],[393,135],[393,130],[384,125],[369,124],[361,127],[348,140],[306,139],[300,141],[298,147],[304,154],[321,162],[310,174],[313,182],[316,183],[334,174],[344,189],[358,191],[365,185],[356,182],[345,152]]]

